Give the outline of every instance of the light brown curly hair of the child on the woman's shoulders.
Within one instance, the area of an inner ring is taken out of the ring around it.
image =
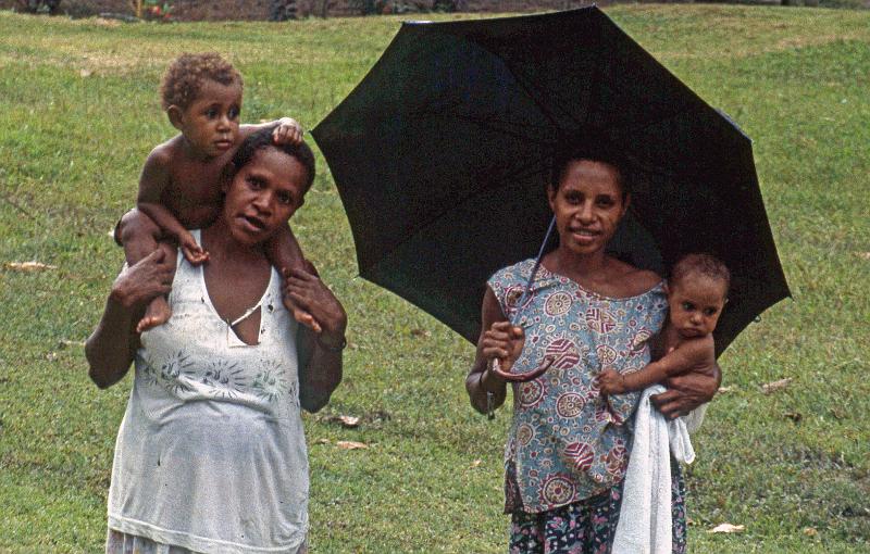
[[[216,52],[184,53],[172,62],[163,75],[160,85],[163,110],[171,105],[186,110],[197,99],[202,81],[207,79],[224,86],[234,83],[243,86],[241,74]]]

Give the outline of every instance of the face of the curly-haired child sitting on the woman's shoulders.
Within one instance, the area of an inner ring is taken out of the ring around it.
[[[216,158],[235,148],[238,140],[238,116],[241,110],[241,86],[206,80],[199,96],[186,110],[178,111],[178,123],[194,152]]]

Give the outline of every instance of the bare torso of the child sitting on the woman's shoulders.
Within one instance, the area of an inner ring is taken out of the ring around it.
[[[223,205],[224,169],[235,149],[210,160],[198,160],[184,151],[177,138],[165,147],[169,175],[160,203],[186,229],[204,228],[217,217]]]

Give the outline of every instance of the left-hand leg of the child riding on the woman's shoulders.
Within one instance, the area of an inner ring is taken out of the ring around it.
[[[161,248],[165,251],[166,262],[172,264],[174,275],[177,250],[171,243],[160,242],[160,227],[138,210],[130,210],[124,214],[115,229],[115,238],[120,239],[121,244],[124,247],[124,256],[127,260],[127,265],[134,265],[158,248]],[[172,310],[169,302],[166,302],[166,298],[162,295],[156,297],[148,304],[145,315],[136,325],[136,332],[142,332],[158,325],[163,325],[171,316]]]

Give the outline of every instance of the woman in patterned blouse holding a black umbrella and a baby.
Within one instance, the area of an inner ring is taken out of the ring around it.
[[[483,299],[483,327],[465,381],[474,407],[505,401],[515,375],[513,424],[505,453],[510,551],[609,552],[619,519],[636,394],[601,398],[606,367],[649,362],[648,339],[664,320],[661,278],[606,253],[631,194],[618,165],[604,156],[567,155],[548,189],[558,247],[531,285],[534,261],[498,270]],[[514,323],[511,323],[514,322]],[[667,417],[712,399],[718,367],[667,382],[656,399]],[[684,482],[673,471],[673,551],[685,550]]]

